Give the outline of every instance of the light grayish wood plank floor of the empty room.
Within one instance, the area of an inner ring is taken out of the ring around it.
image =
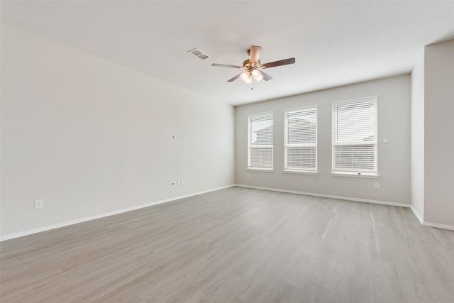
[[[454,302],[454,232],[231,187],[0,244],[6,302]]]

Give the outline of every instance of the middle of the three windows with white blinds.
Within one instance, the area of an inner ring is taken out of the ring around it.
[[[317,106],[284,111],[284,170],[317,171]]]

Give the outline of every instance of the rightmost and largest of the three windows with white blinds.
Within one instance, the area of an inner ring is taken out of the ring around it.
[[[333,102],[333,174],[377,175],[377,96]]]

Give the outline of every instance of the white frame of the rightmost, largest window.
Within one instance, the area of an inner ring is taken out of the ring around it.
[[[344,104],[358,104],[367,101],[373,101],[375,104],[374,112],[374,141],[348,141],[336,143],[336,106]],[[336,169],[336,146],[341,145],[373,145],[374,146],[374,169],[367,170],[339,170]],[[331,175],[332,176],[350,176],[350,177],[380,177],[378,173],[378,95],[370,97],[361,97],[355,99],[346,99],[331,102]]]

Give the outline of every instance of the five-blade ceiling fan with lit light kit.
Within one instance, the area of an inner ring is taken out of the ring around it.
[[[281,65],[289,65],[295,62],[295,58],[289,58],[261,64],[259,60],[261,50],[262,50],[261,46],[252,45],[250,47],[250,50],[248,50],[249,59],[244,60],[243,66],[218,63],[213,63],[211,66],[240,68],[244,70],[244,72],[240,72],[235,77],[228,79],[227,82],[233,82],[236,79],[240,78],[244,82],[251,84],[253,82],[253,79],[255,79],[257,82],[260,82],[260,80],[262,79],[264,79],[265,81],[269,81],[272,79],[270,75],[262,71],[263,69],[277,67]]]

